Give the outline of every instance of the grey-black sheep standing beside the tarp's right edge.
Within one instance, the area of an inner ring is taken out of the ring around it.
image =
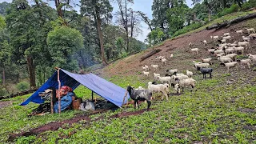
[[[130,95],[130,98],[134,100],[134,109],[136,109],[136,103],[138,105],[138,101],[145,101],[147,102],[147,110],[150,110],[151,106],[151,98],[152,92],[150,90],[134,90],[133,87],[127,86],[127,91]],[[139,108],[139,106],[138,106]]]

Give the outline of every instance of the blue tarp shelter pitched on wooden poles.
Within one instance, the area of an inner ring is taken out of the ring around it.
[[[61,81],[61,86],[70,86],[73,90],[77,88],[80,84],[86,86],[88,89],[92,90],[99,96],[106,98],[106,100],[114,103],[114,105],[121,107],[123,98],[126,94],[126,90],[114,83],[108,82],[103,78],[98,77],[95,74],[74,74],[66,70],[59,70],[59,79]],[[27,98],[25,102],[20,105],[25,106],[29,102],[42,103],[44,100],[39,96],[39,92],[55,87],[58,89],[58,72],[55,73],[44,83],[34,94]],[[125,98],[124,104],[127,99],[130,98],[127,93],[127,98]]]

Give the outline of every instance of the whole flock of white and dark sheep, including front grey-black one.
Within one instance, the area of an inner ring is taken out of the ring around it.
[[[256,38],[255,30],[254,28],[246,29],[247,33],[249,34],[247,37],[245,37],[243,34],[243,30],[237,30],[235,31],[238,36],[241,35],[243,42],[234,41],[231,43],[232,40],[234,40],[234,36],[231,36],[230,33],[225,33],[222,36],[210,36],[214,44],[218,46],[217,48],[210,48],[208,49],[208,52],[211,56],[217,57],[218,61],[220,62],[220,65],[226,66],[227,70],[230,70],[230,68],[235,66],[242,66],[243,69],[248,66],[250,69],[250,65],[253,62],[255,64],[256,62],[256,54],[246,54],[248,58],[246,59],[238,59],[238,54],[245,54],[245,50],[251,49],[250,41],[254,40]],[[206,40],[201,41],[203,46],[208,46],[208,42]],[[217,43],[218,42],[218,43]],[[192,48],[193,43],[189,43],[189,47],[191,50],[191,53],[198,54],[198,51],[200,51],[199,48]],[[174,54],[170,54],[169,58],[165,58],[164,56],[157,56],[155,58],[155,62],[162,62],[162,66],[166,65],[167,59],[171,59],[174,57]],[[210,74],[210,78],[212,78],[211,73],[213,72],[213,68],[210,68],[210,65],[212,65],[212,59],[213,58],[201,58],[200,60],[202,62],[193,62],[194,70],[200,70],[203,74],[203,78],[206,78],[206,74]],[[138,100],[140,101],[147,101],[148,107],[147,110],[149,110],[152,100],[152,96],[154,93],[161,92],[162,93],[162,99],[164,96],[166,97],[166,100],[168,100],[169,90],[170,87],[174,88],[174,93],[180,94],[180,90],[182,88],[182,92],[184,92],[184,87],[191,86],[192,90],[195,88],[196,81],[192,78],[193,72],[190,70],[186,70],[186,74],[178,73],[177,69],[173,70],[166,70],[166,75],[161,76],[157,73],[159,70],[159,66],[151,63],[150,65],[154,70],[154,80],[157,82],[148,82],[147,90],[142,88],[142,86],[139,86],[138,89],[135,89],[132,86],[127,87],[127,91],[130,94],[130,97],[134,100],[134,108],[136,108],[136,103],[138,105]],[[142,66],[142,74],[145,74],[147,77],[150,76],[150,68],[147,65]]]

